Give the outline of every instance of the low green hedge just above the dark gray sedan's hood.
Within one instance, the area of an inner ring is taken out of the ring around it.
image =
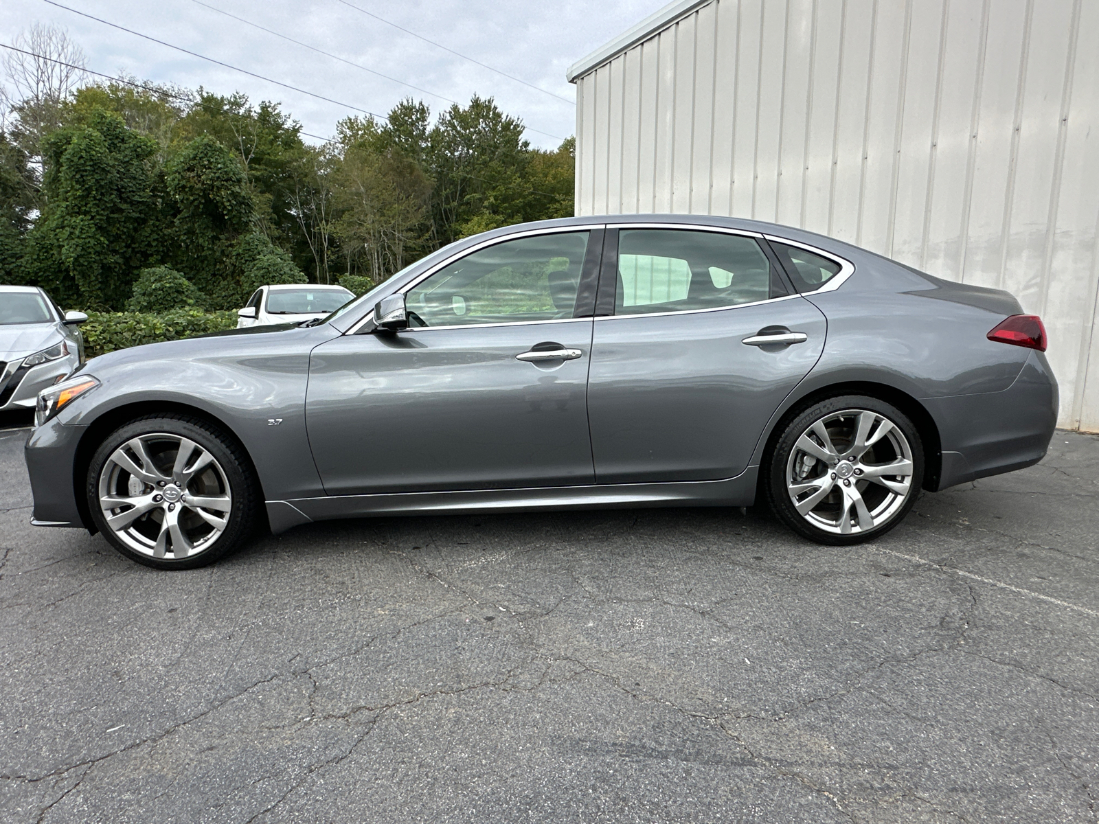
[[[236,327],[236,312],[200,312],[178,309],[160,314],[147,312],[89,312],[84,334],[88,357],[130,346],[222,332]]]

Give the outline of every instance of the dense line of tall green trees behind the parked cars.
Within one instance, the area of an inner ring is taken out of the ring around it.
[[[5,64],[21,97],[0,99],[0,279],[68,305],[122,309],[155,267],[208,309],[269,282],[365,289],[459,237],[573,213],[575,142],[532,148],[491,98],[437,116],[407,99],[309,146],[277,103],[89,82],[64,32],[30,36],[76,68]]]

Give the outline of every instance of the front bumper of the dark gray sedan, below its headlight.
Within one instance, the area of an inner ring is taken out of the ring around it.
[[[80,515],[73,480],[77,445],[87,428],[66,426],[55,417],[31,433],[23,456],[34,497],[32,523],[90,528]]]

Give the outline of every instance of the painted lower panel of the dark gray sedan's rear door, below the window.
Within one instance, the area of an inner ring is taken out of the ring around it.
[[[742,343],[767,326],[804,343]],[[596,319],[588,413],[599,483],[732,478],[770,413],[824,349],[826,324],[798,297],[717,311]]]

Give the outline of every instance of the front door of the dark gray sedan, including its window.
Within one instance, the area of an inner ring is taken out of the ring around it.
[[[592,320],[574,316],[581,274],[598,266],[595,248],[585,266],[588,241],[480,248],[407,290],[408,330],[313,349],[306,414],[325,491],[591,483]]]

